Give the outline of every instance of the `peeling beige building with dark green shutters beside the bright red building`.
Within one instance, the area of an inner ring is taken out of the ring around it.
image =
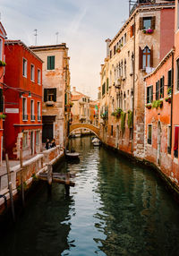
[[[64,147],[68,140],[71,120],[71,94],[68,47],[65,43],[53,46],[30,47],[43,60],[42,141],[55,138]]]

